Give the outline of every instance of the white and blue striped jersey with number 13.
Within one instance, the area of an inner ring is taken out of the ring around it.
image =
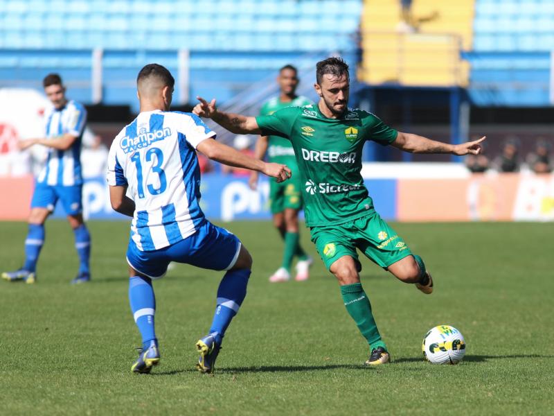
[[[131,238],[141,251],[177,243],[204,222],[196,147],[215,137],[195,114],[141,112],[116,136],[108,156],[110,186],[134,200]]]

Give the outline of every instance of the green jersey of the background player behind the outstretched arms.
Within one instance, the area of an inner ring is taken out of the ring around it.
[[[283,108],[311,104],[311,101],[303,96],[297,96],[292,101],[283,102],[279,97],[271,98],[267,101],[260,110],[260,116],[269,116],[278,110]],[[267,159],[269,162],[281,163],[281,164],[296,164],[294,159],[294,149],[289,140],[283,139],[276,135],[270,135],[267,143]]]

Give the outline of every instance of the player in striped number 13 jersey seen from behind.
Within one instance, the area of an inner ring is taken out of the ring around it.
[[[210,331],[196,344],[197,369],[213,373],[225,331],[246,296],[252,259],[235,235],[204,217],[195,150],[279,182],[290,177],[290,170],[218,143],[215,132],[194,114],[170,112],[175,80],[161,65],[143,67],[136,84],[141,112],[111,144],[107,173],[111,206],[133,217],[127,248],[129,303],[143,345],[131,370],[149,373],[159,363],[152,279],[163,277],[168,264],[177,261],[226,270]]]

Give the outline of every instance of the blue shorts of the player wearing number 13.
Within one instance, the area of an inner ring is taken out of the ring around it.
[[[141,251],[129,239],[127,263],[151,279],[163,277],[171,261],[210,270],[229,270],[235,266],[240,247],[235,234],[206,220],[195,234],[159,250]]]

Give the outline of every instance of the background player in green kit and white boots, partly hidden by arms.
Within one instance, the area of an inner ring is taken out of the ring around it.
[[[285,107],[302,107],[311,104],[307,98],[296,95],[298,81],[298,71],[295,67],[285,65],[281,68],[277,77],[280,94],[262,105],[260,115],[268,116]],[[256,142],[254,157],[263,159],[266,151],[269,162],[286,164],[292,171],[292,177],[287,183],[269,182],[269,201],[273,223],[285,241],[283,262],[280,268],[269,277],[269,281],[289,280],[294,256],[298,257],[295,279],[303,281],[308,278],[312,258],[302,250],[298,234],[298,211],[302,208],[302,183],[298,166],[296,166],[294,149],[289,139],[277,135],[260,136]],[[256,189],[258,172],[251,173],[249,184],[251,189]]]

